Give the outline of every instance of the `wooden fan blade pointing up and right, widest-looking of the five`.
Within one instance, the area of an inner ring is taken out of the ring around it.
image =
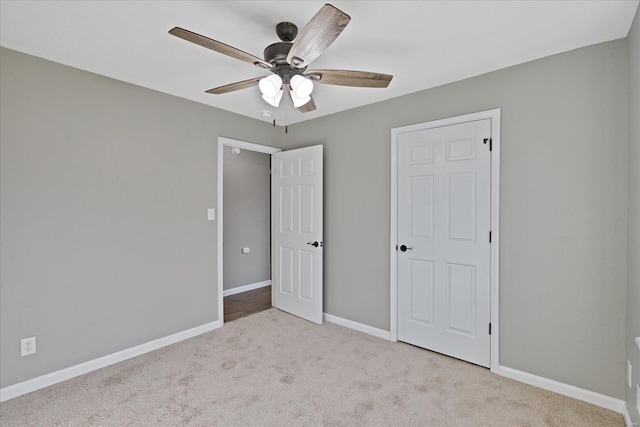
[[[297,68],[306,67],[333,43],[350,20],[340,9],[325,4],[293,42],[287,62]]]

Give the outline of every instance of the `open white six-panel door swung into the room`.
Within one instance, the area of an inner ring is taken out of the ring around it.
[[[272,305],[322,323],[321,145],[272,156]]]

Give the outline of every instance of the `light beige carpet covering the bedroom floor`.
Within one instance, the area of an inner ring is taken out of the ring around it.
[[[487,369],[270,309],[0,404],[3,426],[623,426]]]

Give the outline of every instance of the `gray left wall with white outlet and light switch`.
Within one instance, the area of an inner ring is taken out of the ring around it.
[[[0,66],[1,386],[217,320],[217,138],[272,127],[7,49]]]

